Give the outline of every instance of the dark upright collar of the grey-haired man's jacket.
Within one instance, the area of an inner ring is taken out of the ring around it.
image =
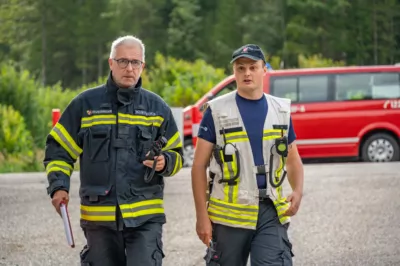
[[[129,88],[120,88],[112,78],[112,72],[108,75],[107,79],[107,94],[113,99],[114,102],[128,105],[133,102],[135,96],[140,92],[142,87],[142,78],[140,77],[135,86]]]

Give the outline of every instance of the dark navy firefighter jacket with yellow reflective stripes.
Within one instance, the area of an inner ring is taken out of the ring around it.
[[[161,135],[165,168],[146,183],[144,156]],[[171,109],[158,95],[141,87],[119,89],[111,73],[105,85],[76,96],[46,139],[44,166],[52,197],[70,190],[79,158],[81,226],[114,229],[146,221],[165,223],[163,177],[183,164],[180,134]]]

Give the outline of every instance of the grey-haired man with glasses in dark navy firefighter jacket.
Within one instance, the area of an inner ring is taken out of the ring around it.
[[[182,167],[182,142],[171,109],[142,87],[143,43],[111,46],[106,84],[76,96],[51,130],[44,165],[59,212],[80,163],[81,265],[162,265],[164,177]]]

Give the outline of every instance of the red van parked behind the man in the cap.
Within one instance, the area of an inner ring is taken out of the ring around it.
[[[191,164],[202,108],[236,89],[234,76],[184,110],[185,153]],[[399,160],[400,66],[272,70],[264,91],[292,100],[292,120],[302,158]]]

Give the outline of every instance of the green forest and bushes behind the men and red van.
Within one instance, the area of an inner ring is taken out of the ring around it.
[[[126,34],[146,46],[144,87],[185,107],[245,43],[273,69],[400,62],[400,0],[0,0],[0,172],[44,170],[51,110],[105,81]]]

